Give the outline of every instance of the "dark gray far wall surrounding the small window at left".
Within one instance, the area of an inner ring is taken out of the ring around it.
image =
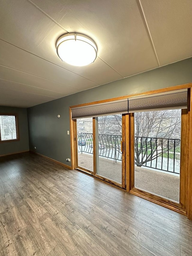
[[[27,109],[19,107],[2,107],[0,106],[0,114],[17,113],[19,121],[19,141],[9,141],[0,143],[0,155],[8,155],[29,150],[29,135]]]

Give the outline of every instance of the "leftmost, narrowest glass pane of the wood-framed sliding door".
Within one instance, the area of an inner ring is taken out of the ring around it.
[[[77,124],[77,167],[93,172],[93,119],[79,118]]]

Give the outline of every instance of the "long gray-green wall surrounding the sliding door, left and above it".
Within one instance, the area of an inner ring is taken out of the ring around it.
[[[69,106],[191,82],[192,58],[31,107],[28,109],[30,149],[69,165],[66,161],[70,158]]]

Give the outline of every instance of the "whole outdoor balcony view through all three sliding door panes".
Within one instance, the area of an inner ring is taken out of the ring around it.
[[[181,110],[134,113],[134,186],[179,202]],[[93,171],[93,120],[77,119],[78,166]],[[96,118],[96,173],[122,184],[122,115]],[[127,169],[128,170],[128,169]]]

